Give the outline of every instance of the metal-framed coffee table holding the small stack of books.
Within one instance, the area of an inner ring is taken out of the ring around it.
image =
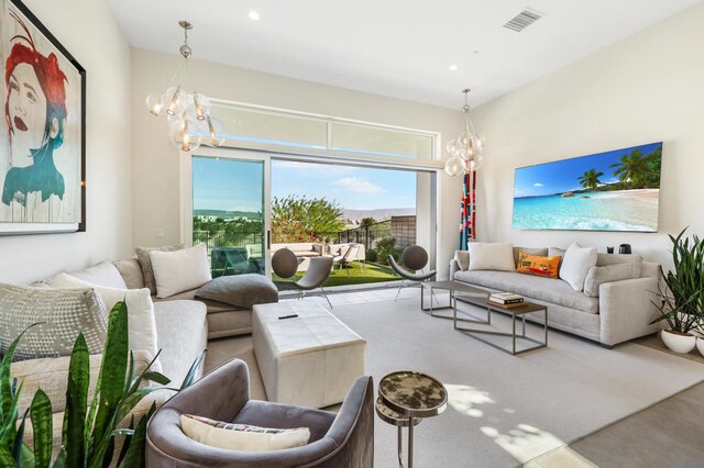
[[[479,307],[485,307],[486,308],[486,315],[487,315],[487,320],[485,322],[479,322],[475,321],[475,323],[481,323],[482,325],[491,325],[492,324],[492,312],[504,312],[504,313],[508,313],[510,314],[510,321],[512,321],[512,332],[507,333],[507,332],[495,332],[495,331],[491,331],[491,330],[477,330],[477,328],[466,328],[466,327],[460,327],[458,326],[458,322],[465,322],[465,320],[462,319],[457,319],[454,320],[454,330],[457,330],[458,332],[462,332],[465,335],[477,339],[482,343],[485,343],[490,346],[495,347],[496,349],[503,350],[504,353],[507,353],[512,356],[517,356],[519,354],[524,354],[524,353],[528,353],[535,349],[539,349],[539,348],[544,348],[548,347],[548,308],[546,305],[540,305],[540,304],[536,304],[532,302],[525,302],[524,305],[519,307],[519,308],[514,308],[514,309],[506,309],[506,308],[501,308],[497,305],[493,305],[488,302],[488,299],[485,300],[477,300],[477,298],[471,297],[471,296],[462,296],[461,297],[463,302],[469,302],[471,304],[474,305],[479,305]],[[455,301],[457,301],[457,297],[455,297]],[[457,317],[457,305],[455,305],[455,317]],[[544,321],[543,321],[543,332],[544,332],[544,339],[542,342],[531,338],[530,336],[526,336],[526,315],[529,313],[534,313],[534,312],[540,312],[542,311],[544,314]],[[516,335],[516,315],[519,315],[522,322],[522,330],[521,330],[521,334],[520,335]],[[484,339],[480,336],[477,336],[479,334],[484,334],[484,335],[495,335],[495,336],[508,336],[512,338],[512,348],[510,349],[506,349],[503,346],[499,346],[495,343],[490,342],[488,339]],[[531,343],[536,343],[536,346],[531,346],[525,349],[519,349],[516,350],[516,338],[521,338],[521,339],[526,339],[528,342]]]

